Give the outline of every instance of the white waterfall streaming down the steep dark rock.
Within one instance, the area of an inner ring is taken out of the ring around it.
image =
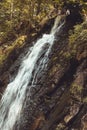
[[[63,23],[58,26],[58,18],[50,34],[44,34],[37,40],[28,54],[23,58],[15,79],[7,85],[0,102],[0,130],[12,130],[17,119],[20,118],[27,87],[31,89],[40,73],[47,65],[49,53],[55,40],[55,30],[59,31]],[[36,69],[35,69],[36,68]],[[35,70],[35,71],[34,71]],[[33,77],[33,79],[32,79]]]

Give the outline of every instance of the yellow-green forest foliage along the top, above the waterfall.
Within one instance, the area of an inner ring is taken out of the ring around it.
[[[56,9],[67,6],[69,3],[75,4],[77,0],[4,0],[0,2],[0,42],[3,38],[18,34],[18,30],[28,23],[27,27],[31,25],[36,26],[46,15]],[[79,0],[78,2],[86,12],[87,2]],[[26,32],[26,28],[24,33]],[[15,35],[16,36],[16,35]]]

